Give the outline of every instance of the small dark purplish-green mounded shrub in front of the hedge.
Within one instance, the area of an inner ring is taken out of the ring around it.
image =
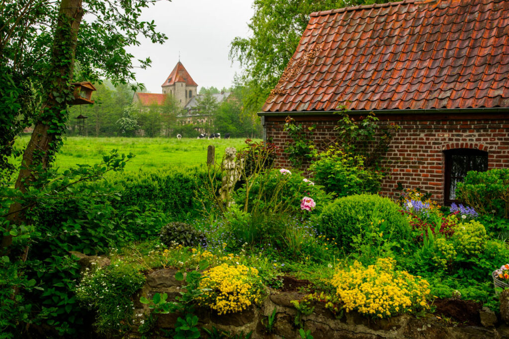
[[[192,225],[180,221],[173,221],[164,225],[159,236],[161,237],[161,242],[166,246],[177,243],[182,246],[192,247],[205,245],[206,243],[205,235],[202,232],[196,230]]]

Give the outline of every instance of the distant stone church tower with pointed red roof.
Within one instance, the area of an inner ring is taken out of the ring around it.
[[[180,107],[184,107],[197,94],[198,84],[191,78],[184,65],[179,62],[161,85],[163,94],[170,94]]]

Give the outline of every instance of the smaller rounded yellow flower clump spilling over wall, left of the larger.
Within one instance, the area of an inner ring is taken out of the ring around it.
[[[219,315],[242,312],[261,298],[263,286],[256,268],[221,264],[204,275],[200,281],[204,293],[196,300]]]

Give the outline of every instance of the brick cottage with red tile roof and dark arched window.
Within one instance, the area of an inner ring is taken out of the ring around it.
[[[281,149],[291,116],[331,143],[334,114],[375,112],[397,123],[381,193],[421,188],[455,198],[467,171],[509,167],[509,1],[415,1],[311,14],[284,74],[259,113]],[[279,150],[276,165],[289,166]]]

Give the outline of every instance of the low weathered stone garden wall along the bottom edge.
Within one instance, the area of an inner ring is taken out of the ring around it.
[[[134,297],[135,326],[129,337],[139,338],[137,326],[147,318],[149,308],[139,303],[139,297],[152,298],[155,293],[167,293],[168,300],[175,298],[184,288],[181,281],[175,280],[175,270],[161,269],[147,276],[145,287]],[[270,290],[269,296],[261,307],[252,306],[242,313],[217,316],[208,309],[198,309],[200,327],[211,329],[212,326],[232,334],[252,332],[251,338],[299,338],[299,327],[294,325],[296,309],[291,300],[300,299],[304,294],[297,292],[278,292]],[[266,331],[267,317],[276,309],[273,330]],[[156,327],[172,328],[178,314],[158,315]],[[479,314],[481,326],[461,326],[439,320],[434,315],[416,318],[409,315],[390,319],[371,320],[357,313],[344,314],[337,319],[323,304],[315,305],[315,312],[302,316],[304,328],[311,330],[315,339],[321,338],[506,338],[509,327],[497,321],[496,316],[483,310]],[[497,326],[498,325],[498,326]],[[206,336],[203,336],[206,337]]]

